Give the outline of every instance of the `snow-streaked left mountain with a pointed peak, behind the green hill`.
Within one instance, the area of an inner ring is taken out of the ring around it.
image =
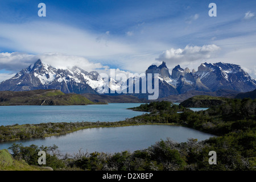
[[[0,90],[24,91],[36,89],[59,89],[64,93],[97,93],[94,88],[102,82],[97,81],[97,72],[86,72],[80,68],[56,69],[36,61],[0,84]]]

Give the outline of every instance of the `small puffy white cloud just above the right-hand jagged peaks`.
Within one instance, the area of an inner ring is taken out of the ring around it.
[[[220,50],[215,44],[204,46],[186,46],[184,49],[171,48],[159,55],[156,60],[167,61],[174,64],[205,60],[213,57],[213,53]]]

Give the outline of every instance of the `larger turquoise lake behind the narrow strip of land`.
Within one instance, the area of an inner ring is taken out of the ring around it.
[[[0,106],[0,126],[46,122],[122,121],[147,112],[133,111],[139,103],[85,106]]]

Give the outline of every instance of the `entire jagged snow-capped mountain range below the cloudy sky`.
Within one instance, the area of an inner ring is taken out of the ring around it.
[[[236,64],[202,63],[197,71],[195,69],[190,71],[189,68],[183,69],[177,65],[170,74],[166,63],[163,61],[159,66],[150,65],[145,73],[146,75],[147,73],[159,74],[159,98],[191,92],[213,93],[218,92],[218,90],[233,90],[239,93],[256,89],[256,80],[243,71],[240,65]],[[135,79],[137,78],[135,77]],[[121,82],[112,78],[109,78],[109,81],[110,90],[120,87]],[[2,81],[0,90],[57,89],[63,93],[99,94],[97,88],[102,86],[104,86],[104,78],[99,77],[99,73],[96,71],[87,72],[78,67],[57,69],[38,60],[35,64],[16,73],[9,80]],[[129,86],[131,85],[128,84],[125,89]],[[149,93],[122,94],[146,98]],[[112,95],[117,95],[117,93]]]

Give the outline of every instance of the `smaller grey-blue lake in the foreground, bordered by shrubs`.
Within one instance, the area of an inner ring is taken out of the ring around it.
[[[5,142],[0,144],[0,148],[8,148],[13,143],[22,143],[24,146],[31,144],[52,146],[56,144],[63,154],[66,152],[69,154],[77,153],[80,148],[82,151],[87,150],[88,152],[113,153],[124,150],[141,150],[155,144],[160,139],[171,138],[176,142],[186,142],[188,138],[205,140],[209,137],[214,137],[214,135],[182,126],[141,125],[84,129],[57,137]]]

